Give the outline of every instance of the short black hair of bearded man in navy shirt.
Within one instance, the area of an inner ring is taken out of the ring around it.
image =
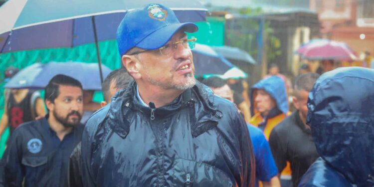
[[[58,74],[54,76],[44,89],[44,101],[48,100],[54,103],[54,100],[60,95],[60,85],[79,87],[83,90],[82,84],[72,77]]]

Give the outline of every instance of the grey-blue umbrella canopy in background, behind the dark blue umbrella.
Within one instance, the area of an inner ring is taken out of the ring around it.
[[[256,64],[256,61],[252,58],[251,55],[249,55],[244,50],[241,50],[237,47],[231,47],[231,46],[213,46],[212,47],[215,52],[222,55],[228,60],[237,60],[237,61],[243,61],[250,64]]]

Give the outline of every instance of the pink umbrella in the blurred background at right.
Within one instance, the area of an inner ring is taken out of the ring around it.
[[[308,60],[357,60],[355,52],[346,43],[317,39],[301,46],[297,53]]]

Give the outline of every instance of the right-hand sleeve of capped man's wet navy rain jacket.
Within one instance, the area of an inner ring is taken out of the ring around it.
[[[235,121],[239,124],[237,134],[240,142],[240,153],[243,165],[243,179],[240,187],[254,187],[256,169],[252,141],[249,136],[247,124],[239,113]]]

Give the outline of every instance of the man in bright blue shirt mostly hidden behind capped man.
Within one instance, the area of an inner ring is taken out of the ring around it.
[[[204,79],[202,83],[212,89],[214,94],[231,102],[234,101],[233,93],[225,80],[214,76]],[[253,125],[247,124],[247,127],[253,144],[253,153],[256,162],[256,187],[258,187],[259,181],[262,182],[263,187],[280,187],[277,177],[278,169],[265,135],[259,128]]]

